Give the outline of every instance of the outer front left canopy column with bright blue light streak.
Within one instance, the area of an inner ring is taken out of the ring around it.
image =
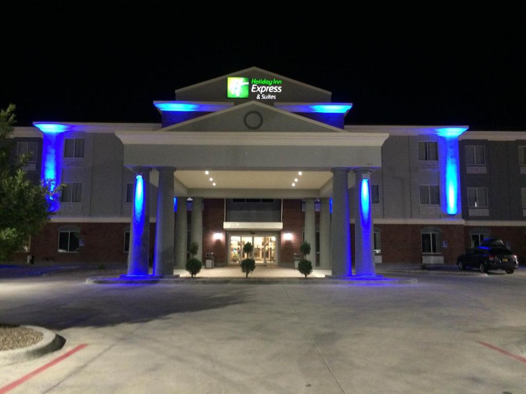
[[[131,207],[128,275],[148,275],[150,250],[150,170],[136,167],[134,198]]]

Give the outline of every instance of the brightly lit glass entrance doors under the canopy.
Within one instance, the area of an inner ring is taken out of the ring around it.
[[[243,252],[243,246],[250,242],[254,246],[250,256]],[[276,235],[239,234],[230,235],[230,264],[240,264],[244,258],[254,258],[256,264],[276,263]]]

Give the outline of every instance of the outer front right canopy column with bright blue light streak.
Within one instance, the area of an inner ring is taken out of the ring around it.
[[[371,169],[355,170],[356,275],[375,275],[375,250],[371,214]]]

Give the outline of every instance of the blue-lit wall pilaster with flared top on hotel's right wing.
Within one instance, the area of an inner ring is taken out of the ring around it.
[[[439,164],[442,185],[445,188],[445,199],[442,202],[442,209],[449,215],[456,215],[459,212],[459,147],[458,137],[466,127],[443,127],[436,129],[437,135],[442,137],[439,141]],[[445,206],[444,206],[445,205]]]

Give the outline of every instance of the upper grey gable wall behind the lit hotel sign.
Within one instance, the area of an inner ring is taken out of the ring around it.
[[[246,98],[232,98],[227,95],[227,80],[229,77],[247,78],[250,84],[249,97]],[[275,98],[269,98],[270,101],[275,102],[330,102],[331,92],[317,88],[315,86],[304,84],[295,79],[287,78],[274,72],[270,72],[258,67],[250,67],[244,70],[231,72],[214,79],[209,79],[204,82],[199,82],[195,85],[190,85],[175,91],[176,100],[188,101],[233,101],[236,103],[258,100],[258,91],[252,91],[252,81],[279,81],[276,86],[281,87]],[[257,84],[256,84],[257,85]],[[261,85],[261,84],[259,84]],[[262,85],[265,85],[263,82]],[[255,90],[257,90],[255,88]],[[261,97],[261,96],[260,96]],[[267,100],[267,99],[265,99]]]

